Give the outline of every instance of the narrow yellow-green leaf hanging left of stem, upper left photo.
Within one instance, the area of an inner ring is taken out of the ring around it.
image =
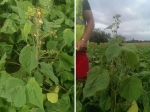
[[[22,35],[25,38],[26,42],[27,42],[28,34],[30,33],[30,30],[31,30],[31,24],[25,23],[23,31],[22,31]]]

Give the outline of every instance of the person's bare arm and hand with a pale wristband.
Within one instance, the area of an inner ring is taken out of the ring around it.
[[[94,18],[91,10],[84,10],[83,16],[87,21],[86,29],[81,37],[80,41],[77,43],[77,50],[82,50],[87,46],[87,41],[90,38],[90,35],[94,29]]]

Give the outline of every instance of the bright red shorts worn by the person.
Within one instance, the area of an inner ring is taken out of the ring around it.
[[[87,77],[89,70],[89,61],[86,55],[86,49],[76,52],[76,77]]]

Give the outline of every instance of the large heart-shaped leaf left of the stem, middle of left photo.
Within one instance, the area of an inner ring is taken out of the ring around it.
[[[20,53],[19,62],[25,70],[31,74],[31,71],[38,66],[36,47],[25,46]]]

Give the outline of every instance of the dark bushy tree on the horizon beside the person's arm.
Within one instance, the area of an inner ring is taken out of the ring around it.
[[[99,44],[100,42],[108,42],[109,39],[111,39],[110,33],[105,33],[104,31],[101,31],[99,28],[97,28],[93,30],[89,41]]]

